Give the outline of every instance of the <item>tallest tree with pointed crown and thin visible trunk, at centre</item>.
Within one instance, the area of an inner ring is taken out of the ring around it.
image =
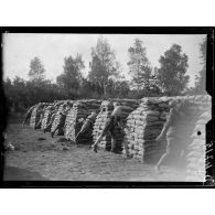
[[[95,47],[92,49],[92,62],[89,63],[89,82],[98,84],[107,95],[108,82],[119,75],[119,63],[107,40],[100,36]]]

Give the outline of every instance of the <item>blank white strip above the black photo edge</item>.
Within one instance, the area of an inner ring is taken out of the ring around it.
[[[214,0],[0,0],[0,25],[213,26]]]

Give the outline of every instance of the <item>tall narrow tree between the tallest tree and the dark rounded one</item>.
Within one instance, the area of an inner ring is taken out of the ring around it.
[[[135,40],[133,46],[128,49],[129,73],[132,76],[132,85],[138,92],[144,87],[150,87],[150,79],[152,77],[149,60],[147,58],[146,47],[142,45],[142,41]]]

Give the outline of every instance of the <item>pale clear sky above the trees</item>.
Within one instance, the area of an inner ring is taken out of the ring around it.
[[[28,79],[30,61],[37,56],[45,67],[45,77],[55,82],[63,73],[64,57],[82,54],[85,63],[84,75],[89,71],[90,51],[97,39],[103,35],[108,40],[120,63],[122,74],[129,79],[127,62],[128,49],[136,37],[143,41],[147,57],[151,66],[159,67],[159,58],[172,44],[182,46],[182,52],[189,56],[187,75],[190,86],[193,86],[195,75],[202,68],[200,43],[204,34],[36,34],[36,33],[4,33],[3,34],[3,78],[20,76]]]

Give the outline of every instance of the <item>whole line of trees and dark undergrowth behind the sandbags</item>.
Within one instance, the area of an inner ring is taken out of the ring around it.
[[[87,77],[82,55],[64,58],[63,73],[56,83],[45,79],[45,68],[39,57],[30,62],[29,80],[15,77],[4,80],[4,94],[10,108],[22,111],[40,101],[84,98],[142,98],[146,96],[176,96],[205,93],[206,41],[201,44],[203,69],[196,76],[195,87],[187,88],[189,57],[182,47],[173,44],[160,56],[160,67],[152,67],[143,42],[136,39],[128,49],[127,63],[131,80],[121,75],[121,66],[107,40],[100,36],[92,49]]]

